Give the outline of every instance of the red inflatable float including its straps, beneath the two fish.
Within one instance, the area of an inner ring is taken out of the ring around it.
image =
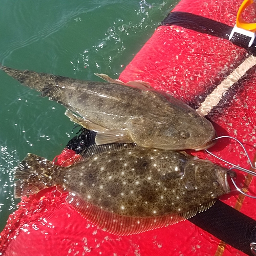
[[[228,39],[241,4],[240,0],[181,0],[119,79],[142,80],[183,100],[206,115],[218,136],[241,141],[255,163],[254,45],[248,47],[243,36]],[[247,9],[243,18],[250,20],[255,9],[253,5]],[[250,169],[234,140],[219,139],[209,151]],[[190,153],[230,167],[204,151]],[[77,157],[65,151],[57,164]],[[255,196],[256,179],[242,175],[248,187],[244,191]],[[22,198],[1,233],[2,255],[253,255],[256,200],[239,193],[189,221],[132,236],[115,236],[92,225],[66,202],[66,195],[54,187]]]

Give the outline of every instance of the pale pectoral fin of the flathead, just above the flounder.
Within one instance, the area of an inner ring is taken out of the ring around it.
[[[109,143],[133,143],[130,133],[127,130],[106,130],[100,131],[95,138],[97,145]]]

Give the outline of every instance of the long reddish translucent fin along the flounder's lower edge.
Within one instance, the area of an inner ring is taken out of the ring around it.
[[[98,206],[81,199],[78,194],[73,192],[69,193],[66,200],[88,221],[98,226],[103,231],[117,236],[137,234],[187,220],[188,218],[195,216],[198,212],[208,209],[215,203],[215,201],[212,201],[204,206],[199,206],[182,214],[147,218],[122,216],[115,214],[114,212],[103,210]]]

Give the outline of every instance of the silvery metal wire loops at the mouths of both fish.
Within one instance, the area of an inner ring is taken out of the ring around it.
[[[252,169],[256,169],[256,167],[253,166],[253,164],[252,164],[252,162],[251,162],[251,160],[250,160],[250,158],[249,158],[249,156],[248,156],[248,153],[247,153],[247,151],[246,151],[246,149],[245,149],[245,147],[244,147],[244,145],[242,144],[241,141],[239,141],[238,139],[233,138],[233,137],[231,137],[231,136],[220,136],[220,137],[217,137],[217,138],[212,139],[212,140],[217,140],[217,139],[221,139],[221,138],[229,138],[229,139],[236,140],[236,141],[242,146],[242,148],[243,148],[243,150],[244,150],[244,152],[245,152],[245,155],[246,155],[246,157],[247,157],[247,159],[248,159],[248,161],[249,161],[249,163],[250,163],[251,168],[252,168]],[[206,151],[208,154],[210,154],[211,156],[214,156],[214,157],[216,157],[217,159],[219,159],[219,160],[221,160],[221,161],[223,161],[223,162],[225,162],[225,163],[227,163],[227,164],[229,164],[229,165],[232,165],[232,167],[229,168],[229,170],[238,169],[238,170],[241,170],[242,172],[245,172],[245,173],[250,174],[250,175],[252,175],[252,176],[256,176],[256,173],[252,172],[251,170],[248,170],[248,169],[245,169],[245,168],[243,168],[243,167],[240,167],[240,166],[238,166],[238,165],[236,165],[236,164],[230,163],[230,162],[228,162],[228,161],[226,161],[226,160],[224,160],[224,159],[222,159],[222,158],[216,156],[215,154],[209,152],[208,150],[205,150],[205,151]],[[238,185],[236,184],[236,182],[234,181],[234,179],[233,179],[232,177],[230,177],[230,179],[231,179],[233,185],[236,187],[236,189],[237,189],[241,194],[243,194],[243,195],[245,195],[245,196],[247,196],[247,197],[256,199],[255,196],[250,196],[250,195],[248,195],[248,194],[245,194],[245,193],[241,190],[241,188],[238,187]]]

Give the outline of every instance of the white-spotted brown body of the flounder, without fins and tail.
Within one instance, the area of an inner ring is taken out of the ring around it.
[[[63,186],[118,215],[164,216],[190,211],[226,194],[217,176],[220,170],[179,152],[136,147],[71,166]],[[223,170],[223,179],[225,174]]]

